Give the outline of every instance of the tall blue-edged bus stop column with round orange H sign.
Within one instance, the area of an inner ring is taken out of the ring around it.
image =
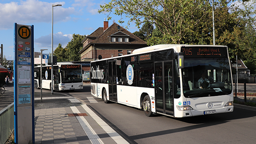
[[[35,143],[34,26],[14,23],[15,144]]]

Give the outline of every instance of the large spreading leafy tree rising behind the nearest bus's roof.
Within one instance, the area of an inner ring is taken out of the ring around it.
[[[112,0],[100,7],[100,13],[114,9],[114,14],[125,15],[130,19],[128,25],[134,22],[138,28],[141,23],[154,23],[172,43],[178,44],[212,10],[208,0]]]

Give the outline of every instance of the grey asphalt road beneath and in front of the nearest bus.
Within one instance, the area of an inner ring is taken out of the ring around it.
[[[133,144],[254,144],[256,111],[234,108],[234,112],[189,118],[164,115],[146,117],[140,109],[122,104],[105,104],[90,95],[90,85],[83,92],[68,92],[85,101],[103,120]],[[93,97],[98,103],[90,103]]]

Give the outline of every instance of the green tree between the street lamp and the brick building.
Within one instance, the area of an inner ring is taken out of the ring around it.
[[[72,40],[65,47],[66,61],[80,61],[80,54],[78,52],[83,48],[83,43],[81,42],[84,38],[84,35],[73,34]]]

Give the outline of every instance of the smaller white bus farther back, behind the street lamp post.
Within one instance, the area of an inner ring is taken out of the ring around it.
[[[37,81],[37,88],[41,84],[41,67],[35,67],[35,80]],[[42,88],[51,89],[52,66],[42,66]],[[53,89],[54,90],[75,90],[83,89],[82,68],[81,64],[73,63],[57,63],[53,65]]]

